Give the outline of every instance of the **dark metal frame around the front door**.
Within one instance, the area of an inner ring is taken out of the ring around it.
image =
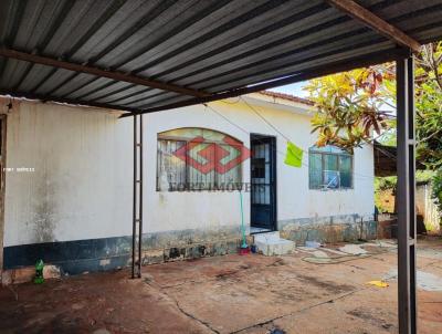
[[[277,137],[273,135],[266,135],[266,134],[257,134],[257,133],[251,133],[250,134],[250,152],[251,154],[253,153],[253,147],[252,147],[252,142],[256,139],[270,139],[270,166],[271,166],[271,208],[272,208],[272,231],[277,231],[277,155],[276,155],[276,148],[277,148]],[[252,226],[252,156],[250,157],[250,226]],[[272,182],[273,180],[273,182]],[[260,232],[257,232],[260,233]]]

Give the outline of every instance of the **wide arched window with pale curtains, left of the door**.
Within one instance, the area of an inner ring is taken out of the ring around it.
[[[160,133],[157,189],[239,189],[242,149],[241,142],[211,129],[188,127]]]

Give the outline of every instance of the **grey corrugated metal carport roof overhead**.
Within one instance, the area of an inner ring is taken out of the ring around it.
[[[421,43],[442,38],[441,0],[357,2]],[[398,55],[392,41],[322,0],[2,0],[0,45],[204,95]],[[127,111],[194,101],[2,56],[0,93]]]

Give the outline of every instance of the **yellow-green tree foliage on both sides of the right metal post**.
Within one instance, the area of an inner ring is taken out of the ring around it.
[[[418,158],[429,169],[442,167],[442,42],[424,45],[415,56]],[[305,90],[318,108],[312,121],[317,145],[347,150],[372,142],[394,143],[396,122],[385,112],[396,105],[391,63],[312,80]]]

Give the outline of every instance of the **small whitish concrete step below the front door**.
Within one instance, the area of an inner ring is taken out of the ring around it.
[[[295,242],[281,239],[277,231],[255,234],[254,243],[257,251],[267,257],[290,254],[295,250]]]

